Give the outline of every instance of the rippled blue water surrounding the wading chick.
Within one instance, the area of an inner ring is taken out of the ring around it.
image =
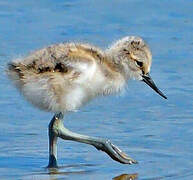
[[[0,0],[0,179],[193,179],[192,11],[192,0]],[[65,125],[111,139],[139,164],[119,164],[88,145],[59,141],[61,168],[49,172],[52,114],[19,95],[5,64],[52,43],[76,40],[105,48],[126,35],[148,42],[151,76],[168,100],[132,81],[124,95],[93,101],[69,114]]]

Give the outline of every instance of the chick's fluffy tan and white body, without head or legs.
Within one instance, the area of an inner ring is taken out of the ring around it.
[[[10,64],[9,76],[32,104],[74,111],[99,95],[119,92],[126,78],[110,57],[85,44],[57,44]]]

